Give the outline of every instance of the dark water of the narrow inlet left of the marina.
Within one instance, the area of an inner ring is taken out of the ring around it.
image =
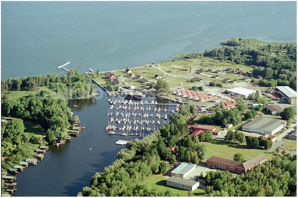
[[[43,161],[20,172],[16,179],[18,190],[15,196],[76,196],[83,187],[90,185],[89,181],[95,172],[103,171],[104,167],[117,158],[117,152],[125,148],[125,145],[116,145],[117,140],[129,141],[139,138],[139,136],[106,133],[110,104],[107,101],[107,94],[100,88],[97,92],[103,97],[76,100],[79,106],[77,109],[72,107],[74,101],[69,101],[72,112],[79,116],[81,125],[85,124],[86,129],[83,129],[71,142],[59,147],[50,146]],[[145,97],[143,100],[170,103],[164,99],[151,97]]]

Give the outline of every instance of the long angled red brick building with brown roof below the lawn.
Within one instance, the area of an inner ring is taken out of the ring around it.
[[[249,159],[245,162],[224,159],[212,156],[206,161],[207,166],[215,167],[222,170],[229,170],[235,173],[246,173],[257,165],[263,164],[267,160],[262,154]]]

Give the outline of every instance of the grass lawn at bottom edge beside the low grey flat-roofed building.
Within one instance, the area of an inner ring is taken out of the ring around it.
[[[170,190],[173,193],[176,193],[177,196],[179,196],[179,197],[188,197],[187,190],[168,187],[168,186],[166,186],[166,180],[167,180],[167,178],[165,178],[163,175],[152,175],[150,178],[148,178],[147,181],[145,181],[145,184],[147,184],[149,187],[157,189],[159,191]],[[205,194],[204,189],[195,189],[193,191],[194,196],[200,196],[203,194]]]

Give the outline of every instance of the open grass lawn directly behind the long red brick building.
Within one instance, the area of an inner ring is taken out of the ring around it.
[[[251,149],[246,144],[238,145],[238,143],[229,143],[215,138],[212,138],[210,142],[201,142],[200,144],[204,144],[207,147],[206,159],[211,156],[233,159],[235,153],[242,153],[245,160],[249,160],[266,151],[263,149]]]

